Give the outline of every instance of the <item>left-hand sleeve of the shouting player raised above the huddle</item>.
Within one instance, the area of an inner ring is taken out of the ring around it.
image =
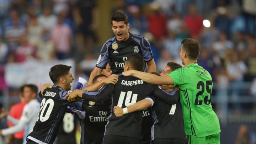
[[[106,68],[107,62],[108,62],[108,46],[105,43],[101,48],[100,56],[98,57],[96,67],[104,69]]]

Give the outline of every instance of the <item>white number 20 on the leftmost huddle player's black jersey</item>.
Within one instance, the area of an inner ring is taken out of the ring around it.
[[[50,113],[52,112],[53,106],[54,106],[53,99],[49,98],[46,101],[46,98],[44,98],[41,102],[41,107],[40,107],[39,115],[37,117],[37,121],[38,119],[40,119],[41,122],[47,121],[50,117]]]

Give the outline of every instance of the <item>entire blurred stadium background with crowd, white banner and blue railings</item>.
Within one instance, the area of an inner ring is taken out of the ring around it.
[[[114,37],[111,16],[122,10],[130,32],[149,39],[158,72],[181,64],[182,39],[200,42],[198,64],[213,77],[221,143],[255,144],[255,7],[255,0],[0,0],[0,106],[20,102],[23,84],[51,83],[55,64],[88,79],[103,43]]]

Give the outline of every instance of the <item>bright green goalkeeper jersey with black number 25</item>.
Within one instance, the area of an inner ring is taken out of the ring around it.
[[[174,85],[180,88],[186,135],[206,137],[220,132],[219,119],[212,109],[212,76],[209,72],[192,63],[168,74]]]

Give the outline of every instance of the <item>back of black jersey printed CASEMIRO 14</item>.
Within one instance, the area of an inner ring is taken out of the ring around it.
[[[148,84],[133,76],[120,75],[114,85],[111,115],[106,125],[105,135],[121,135],[140,138],[142,111],[125,114],[122,117],[113,115],[113,106],[128,107],[149,96],[155,85]]]

